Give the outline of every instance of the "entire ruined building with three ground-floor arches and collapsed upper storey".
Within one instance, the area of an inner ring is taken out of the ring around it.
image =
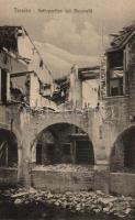
[[[101,66],[54,79],[22,26],[0,28],[0,184],[135,195],[135,26],[113,37]]]

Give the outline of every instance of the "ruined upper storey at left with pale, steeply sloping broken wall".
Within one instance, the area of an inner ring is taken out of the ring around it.
[[[53,78],[22,26],[0,26],[0,101],[47,105]]]

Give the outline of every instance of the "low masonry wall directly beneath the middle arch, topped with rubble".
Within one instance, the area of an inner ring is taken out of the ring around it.
[[[32,185],[35,188],[57,193],[93,189],[93,172],[50,172],[32,170]]]

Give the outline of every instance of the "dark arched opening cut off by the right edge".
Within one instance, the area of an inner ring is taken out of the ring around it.
[[[135,172],[135,127],[125,130],[111,152],[111,170]]]

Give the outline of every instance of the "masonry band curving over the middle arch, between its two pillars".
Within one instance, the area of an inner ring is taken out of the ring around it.
[[[91,112],[93,113],[93,112]],[[92,122],[93,114],[88,117],[87,114],[77,113],[77,112],[61,112],[61,113],[52,113],[46,112],[44,116],[38,117],[37,114],[31,116],[29,124],[24,128],[23,133],[24,135],[32,129],[31,124],[33,125],[33,132],[31,135],[32,145],[34,143],[35,134],[40,134],[46,128],[56,124],[56,123],[69,123],[75,127],[82,129],[89,136],[92,136]]]

